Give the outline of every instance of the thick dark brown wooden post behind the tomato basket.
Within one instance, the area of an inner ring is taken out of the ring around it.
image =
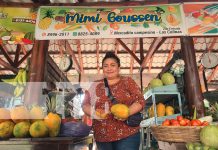
[[[199,118],[204,116],[204,104],[192,37],[181,37],[181,49],[185,61],[185,97],[188,100],[190,113],[193,114],[196,107],[197,118]]]

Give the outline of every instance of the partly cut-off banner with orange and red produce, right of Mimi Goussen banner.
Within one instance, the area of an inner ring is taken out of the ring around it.
[[[218,35],[218,3],[184,3],[187,32],[191,36]]]

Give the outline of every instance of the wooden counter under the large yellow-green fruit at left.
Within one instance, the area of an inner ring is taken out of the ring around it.
[[[93,136],[54,138],[11,138],[0,141],[0,150],[92,150]],[[79,148],[80,147],[80,148]]]

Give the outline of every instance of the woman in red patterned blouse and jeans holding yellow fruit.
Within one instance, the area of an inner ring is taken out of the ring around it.
[[[102,67],[117,103],[128,106],[129,116],[141,111],[145,102],[143,95],[133,79],[119,74],[120,59],[113,52],[107,52]],[[113,116],[109,111],[112,105],[105,94],[103,79],[94,82],[89,92],[86,92],[83,111],[93,118],[94,138],[98,150],[138,150],[139,127],[130,127],[124,120]]]

